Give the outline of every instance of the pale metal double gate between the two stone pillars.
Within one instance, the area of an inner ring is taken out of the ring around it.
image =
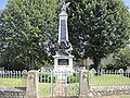
[[[77,98],[79,93],[79,72],[40,71],[40,96],[51,98]]]

